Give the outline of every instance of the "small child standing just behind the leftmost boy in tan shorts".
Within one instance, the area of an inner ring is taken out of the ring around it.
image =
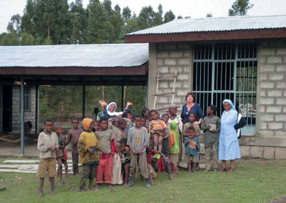
[[[56,176],[60,178],[60,185],[65,183],[63,180],[63,164],[65,166],[65,177],[68,177],[68,163],[64,158],[64,150],[65,150],[65,141],[62,138],[61,134],[63,132],[63,128],[59,124],[55,124],[53,126],[54,132],[56,136],[58,136],[59,149],[55,150],[56,162],[58,162],[58,171],[56,171]]]

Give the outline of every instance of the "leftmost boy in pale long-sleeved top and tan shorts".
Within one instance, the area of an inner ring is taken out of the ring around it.
[[[58,136],[52,132],[53,121],[44,120],[44,130],[38,137],[38,150],[40,151],[40,162],[37,171],[37,177],[40,178],[40,193],[43,196],[43,185],[46,173],[50,182],[50,195],[54,195],[54,177],[56,176],[55,168],[55,150],[59,149]]]

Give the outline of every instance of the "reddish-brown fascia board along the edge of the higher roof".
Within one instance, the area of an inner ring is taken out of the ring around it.
[[[217,32],[189,32],[168,34],[141,34],[126,35],[126,43],[156,43],[182,41],[209,41],[209,40],[237,40],[237,39],[269,39],[286,38],[286,28],[235,30]]]

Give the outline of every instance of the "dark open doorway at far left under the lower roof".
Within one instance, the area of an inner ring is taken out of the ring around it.
[[[3,131],[12,131],[12,85],[3,86]]]

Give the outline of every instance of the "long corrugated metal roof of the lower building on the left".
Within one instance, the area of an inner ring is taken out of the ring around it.
[[[148,43],[0,46],[0,67],[132,67],[148,61]]]

